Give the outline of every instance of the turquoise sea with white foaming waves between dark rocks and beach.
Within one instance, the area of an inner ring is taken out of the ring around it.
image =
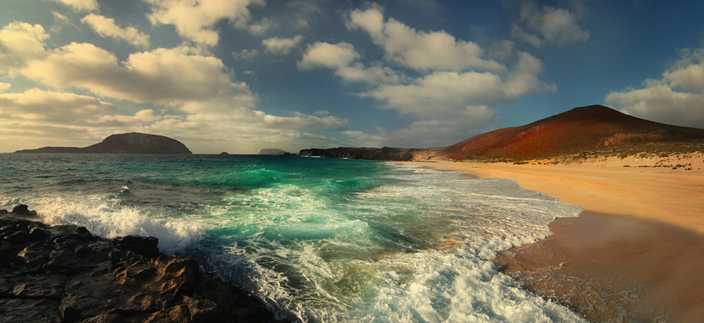
[[[0,208],[159,238],[303,322],[572,322],[491,258],[579,207],[508,179],[367,160],[0,155]]]

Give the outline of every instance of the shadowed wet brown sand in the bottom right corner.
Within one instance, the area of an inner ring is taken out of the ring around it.
[[[595,322],[701,322],[704,237],[623,215],[556,219],[553,236],[494,263],[529,290]]]

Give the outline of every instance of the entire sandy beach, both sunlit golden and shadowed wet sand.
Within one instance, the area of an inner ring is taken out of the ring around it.
[[[693,322],[704,315],[704,154],[600,158],[553,165],[414,162],[514,179],[579,205],[553,235],[494,262],[527,289],[592,321]]]

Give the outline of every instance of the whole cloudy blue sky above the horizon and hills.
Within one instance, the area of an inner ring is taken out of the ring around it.
[[[704,127],[704,1],[0,0],[0,152],[436,147],[603,104]]]

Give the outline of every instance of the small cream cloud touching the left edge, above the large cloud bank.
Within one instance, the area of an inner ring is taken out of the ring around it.
[[[0,29],[0,73],[13,73],[25,61],[44,56],[44,41],[49,34],[42,25],[10,23]]]

